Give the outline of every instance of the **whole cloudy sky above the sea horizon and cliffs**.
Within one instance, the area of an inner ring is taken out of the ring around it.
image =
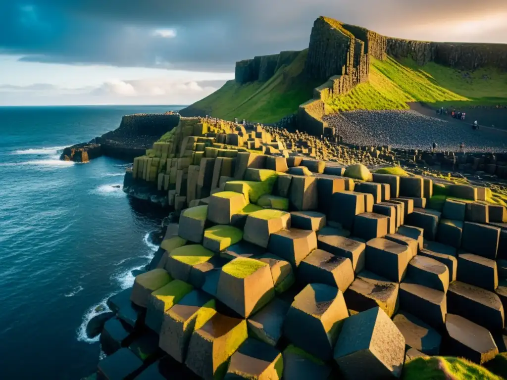
[[[0,0],[0,105],[191,104],[235,61],[308,47],[320,15],[507,43],[506,0]]]

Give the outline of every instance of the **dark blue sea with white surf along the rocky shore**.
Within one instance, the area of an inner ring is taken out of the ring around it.
[[[157,249],[165,216],[121,188],[127,162],[59,161],[123,115],[178,106],[0,107],[0,378],[80,379],[98,362],[84,333]]]

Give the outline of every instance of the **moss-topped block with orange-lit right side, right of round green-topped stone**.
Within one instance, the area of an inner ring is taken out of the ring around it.
[[[267,248],[271,234],[291,226],[291,214],[280,210],[255,211],[246,217],[243,239]]]

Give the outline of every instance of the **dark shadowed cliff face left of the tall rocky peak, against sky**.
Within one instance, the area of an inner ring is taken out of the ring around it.
[[[281,66],[291,64],[299,53],[301,52],[284,51],[236,62],[235,81],[241,84],[254,81],[267,82]]]

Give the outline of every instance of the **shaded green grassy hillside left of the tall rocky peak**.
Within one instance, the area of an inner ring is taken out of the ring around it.
[[[313,88],[320,85],[305,79],[307,53],[308,50],[303,50],[293,63],[280,67],[265,83],[240,85],[228,81],[221,89],[183,110],[183,115],[195,111],[225,120],[276,122],[296,112],[301,103],[312,97]]]

